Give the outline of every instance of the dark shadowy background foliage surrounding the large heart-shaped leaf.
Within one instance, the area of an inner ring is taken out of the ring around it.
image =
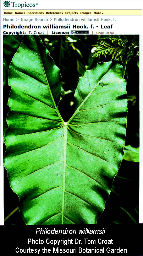
[[[59,102],[59,111],[65,122],[76,109],[74,91],[79,76],[92,69],[99,62],[117,59],[123,66],[122,75],[127,80],[127,132],[125,145],[139,147],[139,36],[41,36],[55,64],[61,70],[64,92]],[[4,37],[4,132],[7,128],[6,116],[9,111],[7,101],[10,93],[8,69],[16,53],[22,36]],[[5,152],[5,144],[4,144]],[[7,172],[4,171],[4,214],[15,212],[5,221],[5,225],[25,225],[17,210],[18,197],[9,186]],[[139,218],[139,163],[123,159],[114,179],[105,210],[98,224],[138,223]]]

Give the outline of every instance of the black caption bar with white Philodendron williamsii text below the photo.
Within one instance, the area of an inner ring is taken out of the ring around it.
[[[11,255],[142,256],[143,224],[1,226],[1,250]]]

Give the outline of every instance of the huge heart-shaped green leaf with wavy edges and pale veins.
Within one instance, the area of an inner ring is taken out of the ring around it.
[[[77,109],[67,123],[57,110],[59,69],[39,38],[24,38],[10,65],[9,85],[4,163],[24,221],[95,224],[123,158],[122,66],[99,63],[79,78]]]

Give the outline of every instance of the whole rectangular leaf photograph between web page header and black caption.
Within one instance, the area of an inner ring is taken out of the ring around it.
[[[139,36],[3,42],[5,225],[138,223]]]

